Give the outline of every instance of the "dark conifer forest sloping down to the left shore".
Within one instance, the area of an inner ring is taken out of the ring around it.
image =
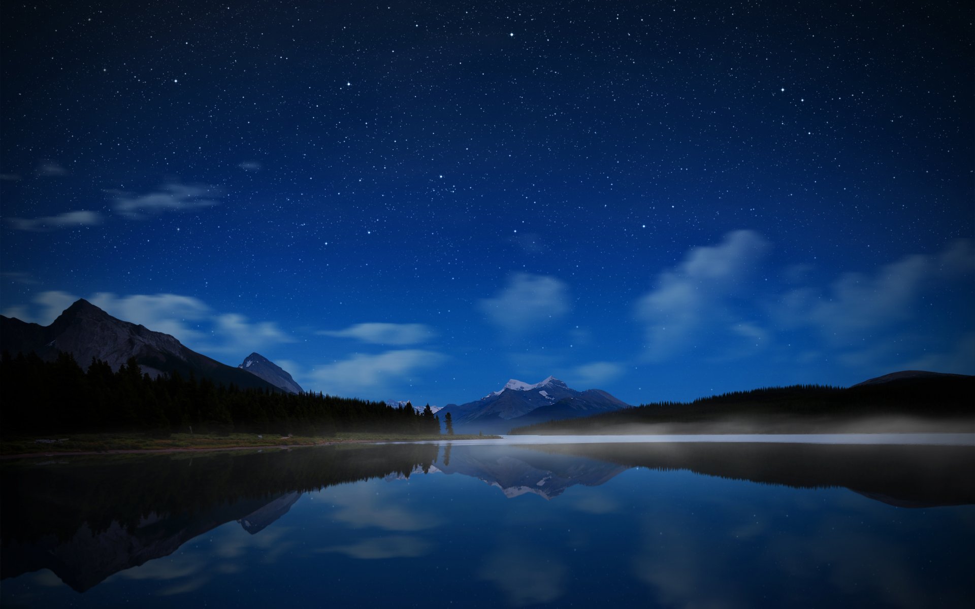
[[[215,384],[192,373],[150,377],[135,359],[115,372],[95,360],[87,370],[70,354],[53,362],[36,354],[0,359],[0,434],[66,434],[145,430],[254,432],[330,436],[335,432],[439,434],[429,408],[351,400],[322,394],[286,394]]]

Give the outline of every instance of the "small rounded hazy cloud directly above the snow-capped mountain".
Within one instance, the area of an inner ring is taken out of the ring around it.
[[[496,296],[482,299],[478,308],[510,334],[526,334],[568,313],[568,286],[551,276],[518,273]]]

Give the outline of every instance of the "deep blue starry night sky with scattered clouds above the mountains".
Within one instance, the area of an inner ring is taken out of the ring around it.
[[[305,389],[975,373],[967,2],[7,2],[0,311]]]

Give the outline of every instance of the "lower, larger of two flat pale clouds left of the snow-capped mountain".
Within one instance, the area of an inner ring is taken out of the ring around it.
[[[403,349],[378,355],[356,354],[347,360],[320,365],[307,378],[320,391],[331,395],[374,395],[386,391],[390,382],[408,379],[418,370],[433,368],[447,357],[435,351]]]

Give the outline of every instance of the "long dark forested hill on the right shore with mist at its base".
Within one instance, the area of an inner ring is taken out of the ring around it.
[[[652,426],[652,427],[649,427]],[[721,434],[942,431],[975,433],[975,377],[930,374],[846,389],[772,387],[655,402],[512,434]]]

